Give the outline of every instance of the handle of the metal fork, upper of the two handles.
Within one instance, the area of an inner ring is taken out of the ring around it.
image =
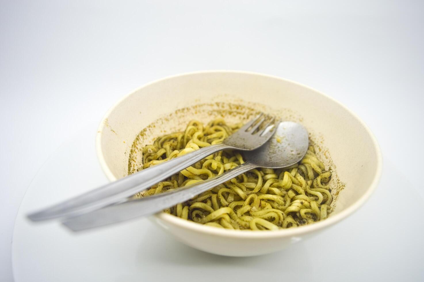
[[[125,200],[135,193],[145,190],[157,182],[178,173],[195,162],[224,149],[235,149],[225,144],[210,145],[190,153],[170,159],[150,168],[146,168],[121,178],[112,183],[98,187],[75,198],[61,202],[47,209],[31,213],[32,221],[42,221],[52,218],[72,217],[91,212],[110,204]]]

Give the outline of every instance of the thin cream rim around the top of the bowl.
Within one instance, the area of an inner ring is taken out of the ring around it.
[[[310,232],[317,231],[317,230],[323,229],[325,227],[331,226],[331,225],[341,221],[343,218],[348,217],[353,212],[357,211],[357,209],[359,209],[359,207],[361,207],[365,203],[365,201],[367,201],[368,198],[370,198],[371,194],[377,188],[377,185],[378,185],[380,177],[381,177],[381,173],[382,173],[382,153],[381,153],[380,146],[377,142],[376,137],[374,136],[374,134],[372,133],[370,128],[367,126],[367,124],[363,120],[361,120],[360,117],[357,116],[357,114],[352,112],[350,109],[348,109],[345,105],[343,105],[339,101],[335,100],[334,98],[330,97],[329,95],[326,95],[326,94],[324,94],[324,93],[322,93],[322,92],[320,92],[316,89],[313,89],[312,87],[306,86],[306,85],[298,83],[296,81],[292,81],[290,79],[281,78],[281,77],[276,76],[276,75],[268,75],[268,74],[263,74],[263,73],[256,73],[256,72],[250,72],[250,71],[240,71],[240,70],[201,70],[201,71],[194,71],[194,72],[170,75],[170,76],[167,76],[167,77],[164,77],[164,78],[159,78],[159,79],[156,79],[154,81],[148,82],[148,83],[132,90],[131,92],[129,92],[128,94],[126,94],[122,98],[120,98],[116,103],[114,103],[114,105],[108,109],[106,114],[104,114],[104,116],[103,116],[103,118],[100,122],[100,125],[98,127],[97,134],[96,134],[96,141],[95,141],[96,152],[97,152],[97,156],[98,156],[98,159],[99,159],[99,162],[100,162],[100,166],[101,166],[103,172],[106,174],[106,177],[110,181],[115,181],[115,180],[117,180],[117,178],[113,175],[112,171],[109,169],[108,165],[106,164],[106,160],[103,156],[103,152],[101,150],[101,141],[102,141],[102,137],[101,137],[102,134],[101,133],[103,132],[103,129],[106,126],[103,121],[106,120],[109,117],[111,112],[117,106],[119,106],[120,103],[122,103],[126,98],[128,98],[130,95],[134,94],[135,92],[139,91],[140,89],[147,87],[151,84],[156,84],[158,82],[165,81],[165,80],[170,79],[170,78],[177,78],[177,77],[188,76],[188,75],[207,74],[207,73],[238,73],[238,74],[248,74],[248,75],[259,75],[259,76],[262,76],[262,77],[279,79],[279,80],[282,80],[282,81],[285,81],[285,82],[289,82],[289,83],[296,84],[298,86],[310,89],[310,90],[324,96],[325,98],[337,103],[339,106],[341,106],[347,112],[349,112],[354,118],[356,118],[359,121],[359,123],[365,128],[365,130],[367,131],[369,136],[371,137],[371,140],[372,140],[373,145],[374,145],[374,149],[377,153],[377,170],[376,170],[376,173],[374,175],[374,179],[371,182],[371,185],[368,187],[368,190],[366,190],[366,192],[357,201],[355,201],[350,207],[342,210],[341,212],[339,212],[335,215],[329,216],[324,221],[318,221],[314,224],[310,224],[310,225],[306,225],[306,226],[300,226],[298,228],[280,229],[280,230],[275,230],[275,231],[229,230],[229,229],[216,228],[216,227],[213,227],[213,226],[205,226],[203,224],[195,223],[193,221],[187,221],[187,220],[178,218],[174,215],[167,214],[165,212],[159,212],[159,213],[153,215],[153,217],[160,219],[162,221],[165,221],[166,223],[180,227],[180,228],[189,229],[193,232],[205,233],[205,234],[213,235],[213,236],[232,237],[232,238],[263,238],[263,239],[265,239],[265,238],[275,238],[275,237],[290,237],[290,236],[297,236],[297,235],[310,233]]]

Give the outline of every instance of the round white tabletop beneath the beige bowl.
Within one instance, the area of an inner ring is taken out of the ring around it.
[[[218,275],[225,281],[236,281],[240,275],[248,275],[249,281],[279,281],[278,277],[287,281],[311,277],[325,277],[325,281],[423,278],[424,241],[419,234],[424,222],[388,208],[399,204],[392,195],[398,195],[397,187],[407,181],[402,173],[393,179],[389,172],[396,168],[388,160],[381,189],[358,212],[309,240],[259,257],[231,258],[197,251],[148,219],[80,234],[56,222],[27,221],[28,211],[105,183],[94,154],[93,129],[95,126],[85,128],[55,151],[28,188],[14,230],[16,281],[191,281],[201,277],[212,282]],[[52,190],[52,182],[62,183],[60,189]],[[403,193],[408,195],[410,215],[421,215],[424,208],[416,190],[404,187]]]

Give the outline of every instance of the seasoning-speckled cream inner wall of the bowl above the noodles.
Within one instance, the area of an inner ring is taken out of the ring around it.
[[[98,130],[100,162],[109,179],[119,179],[140,164],[139,148],[184,129],[189,120],[245,121],[259,111],[304,125],[326,168],[335,170],[330,218],[364,201],[375,187],[381,156],[359,118],[314,89],[256,73],[189,73],[137,89],[106,113]]]

